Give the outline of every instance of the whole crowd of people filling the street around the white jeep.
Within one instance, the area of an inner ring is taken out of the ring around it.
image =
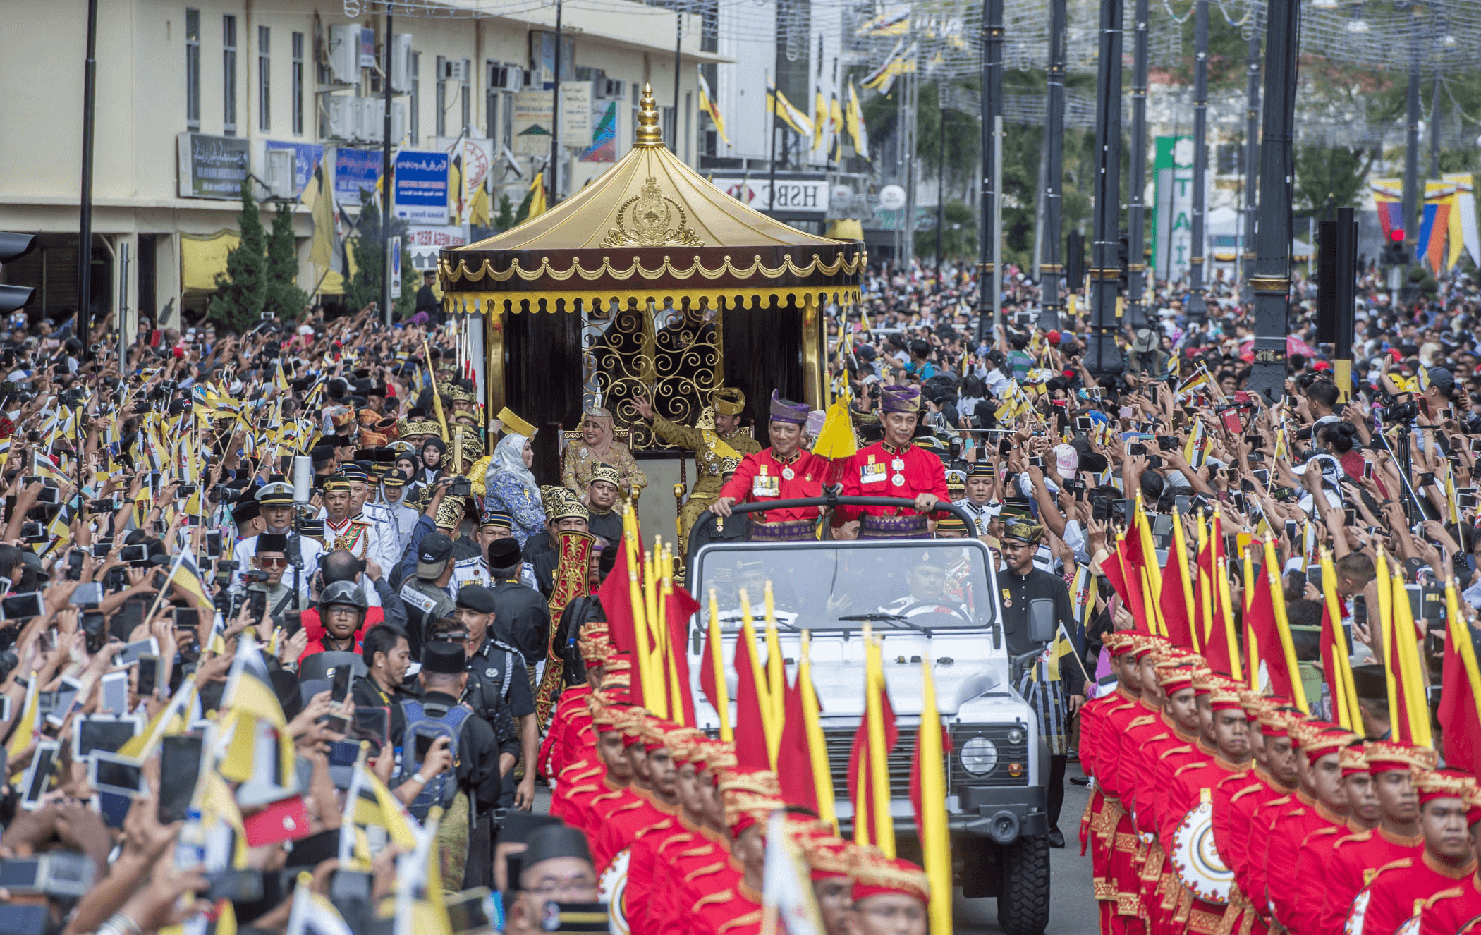
[[[1300,353],[1268,400],[1222,282],[1204,320],[1158,285],[1115,375],[1086,369],[1074,304],[1046,330],[1029,277],[1004,282],[997,329],[966,270],[874,270],[829,310],[843,458],[837,422],[769,387],[721,388],[693,425],[638,397],[699,465],[680,559],[736,535],[982,539],[1050,845],[1068,765],[1094,784],[1103,931],[1460,931],[1481,914],[1481,717],[1450,665],[1481,608],[1475,286],[1395,307],[1364,279],[1342,385],[1297,283]],[[141,329],[121,360],[107,327],[0,336],[0,931],[551,931],[618,874],[635,935],[746,935],[785,834],[828,935],[924,934],[920,867],[628,695],[594,594],[647,476],[607,409],[536,479],[535,428],[484,412],[456,323]],[[740,425],[746,391],[770,393],[764,427]],[[835,485],[896,501],[698,523]],[[1182,631],[1137,563],[1194,569]],[[1250,636],[1272,603],[1284,655]],[[1200,808],[1223,889],[1174,859]]]

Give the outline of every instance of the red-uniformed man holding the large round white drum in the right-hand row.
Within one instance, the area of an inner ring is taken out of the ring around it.
[[[1183,862],[1179,855],[1177,833],[1185,822],[1192,822],[1194,827],[1200,821],[1211,824],[1213,788],[1244,769],[1250,760],[1250,739],[1238,683],[1198,670],[1194,673],[1194,693],[1198,698],[1200,728],[1204,722],[1208,723],[1207,735],[1213,741],[1213,756],[1203,756],[1173,772],[1158,837],[1183,883],[1173,923],[1186,923],[1186,931],[1195,935],[1214,935],[1223,920],[1226,902],[1216,902],[1207,882],[1194,867]],[[1198,745],[1203,748],[1203,736]],[[1201,816],[1203,812],[1207,812],[1207,816]]]

